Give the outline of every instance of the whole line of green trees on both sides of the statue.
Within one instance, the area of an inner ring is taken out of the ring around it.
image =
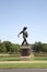
[[[31,44],[33,52],[46,52],[47,53],[47,43],[35,42]],[[11,43],[10,41],[0,42],[0,53],[20,53],[20,44]]]

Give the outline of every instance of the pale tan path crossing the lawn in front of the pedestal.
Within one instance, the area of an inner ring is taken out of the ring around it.
[[[47,63],[47,61],[0,61],[0,63]]]

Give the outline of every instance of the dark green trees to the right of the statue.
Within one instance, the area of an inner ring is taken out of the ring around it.
[[[47,43],[42,43],[42,42],[35,42],[32,45],[32,49],[34,52],[46,52],[47,53]]]

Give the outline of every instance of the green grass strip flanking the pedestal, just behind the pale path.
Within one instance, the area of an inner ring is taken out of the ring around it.
[[[47,61],[47,56],[34,56],[31,58],[31,60],[46,60]],[[20,56],[0,56],[0,61],[21,61]]]

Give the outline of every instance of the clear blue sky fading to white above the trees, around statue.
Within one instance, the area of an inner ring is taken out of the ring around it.
[[[28,43],[47,43],[47,0],[0,0],[0,40],[21,44],[24,27]]]

